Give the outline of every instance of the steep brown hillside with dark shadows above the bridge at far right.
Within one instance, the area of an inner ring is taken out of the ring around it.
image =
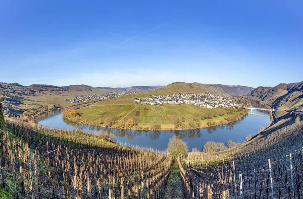
[[[244,96],[275,108],[293,110],[303,105],[303,82],[281,83],[275,87],[257,87]]]

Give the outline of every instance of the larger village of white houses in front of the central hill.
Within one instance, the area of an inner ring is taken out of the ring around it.
[[[173,95],[152,95],[150,98],[135,98],[135,101],[145,105],[161,104],[194,104],[205,108],[237,108],[242,104],[235,101],[229,96],[215,95],[212,93],[190,93],[190,94],[173,94]]]

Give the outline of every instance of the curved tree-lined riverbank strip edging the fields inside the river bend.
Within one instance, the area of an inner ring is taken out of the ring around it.
[[[238,119],[244,117],[247,115],[247,110],[242,110],[239,112],[230,113],[227,115],[222,115],[218,117],[214,117],[212,119],[204,119],[204,120],[192,120],[189,122],[182,122],[180,123],[153,123],[153,124],[143,124],[143,123],[134,123],[134,121],[127,120],[121,122],[121,120],[116,121],[105,121],[103,123],[97,123],[85,118],[81,118],[81,115],[77,114],[65,114],[62,113],[62,117],[66,120],[69,120],[71,122],[85,124],[85,125],[92,125],[92,126],[98,126],[98,127],[105,127],[105,128],[113,128],[113,129],[126,129],[126,130],[140,130],[140,131],[172,131],[172,130],[190,130],[190,129],[199,129],[199,128],[208,128],[208,127],[215,127],[220,126],[223,124],[228,124],[231,122],[235,122]],[[178,127],[176,128],[176,126]]]

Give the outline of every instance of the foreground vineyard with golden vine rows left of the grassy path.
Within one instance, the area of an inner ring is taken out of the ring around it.
[[[171,164],[165,155],[12,119],[0,132],[0,185],[15,197],[162,197]]]

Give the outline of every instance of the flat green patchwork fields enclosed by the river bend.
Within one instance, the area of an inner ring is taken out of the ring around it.
[[[80,108],[77,110],[79,116],[76,121],[102,126],[104,120],[111,117],[116,123],[120,120],[132,119],[136,125],[142,127],[160,124],[162,129],[174,129],[176,120],[182,120],[183,124],[186,125],[198,119],[200,120],[199,127],[208,127],[209,122],[216,122],[217,125],[220,125],[227,123],[224,118],[238,114],[238,112],[229,114],[228,111],[220,108],[199,108],[191,104],[141,105],[133,101],[134,96],[137,97],[138,94],[103,100],[91,106]]]

